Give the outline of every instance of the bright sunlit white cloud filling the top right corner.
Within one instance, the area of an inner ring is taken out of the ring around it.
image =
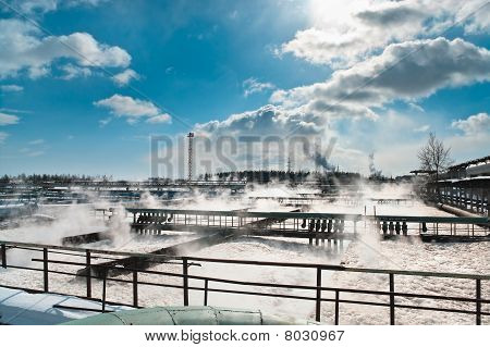
[[[310,1],[311,26],[283,44],[292,53],[334,67],[352,65],[393,42],[413,40],[462,26],[467,34],[488,30],[487,0],[331,0]]]

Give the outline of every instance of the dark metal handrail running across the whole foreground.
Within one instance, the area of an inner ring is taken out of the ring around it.
[[[137,253],[130,253],[130,252],[115,252],[115,251],[113,252],[113,251],[97,250],[97,249],[82,249],[82,248],[64,247],[64,246],[47,246],[47,245],[11,243],[11,241],[0,241],[0,246],[1,246],[1,251],[2,251],[1,258],[2,258],[2,267],[3,268],[41,271],[44,273],[44,290],[39,290],[39,292],[45,292],[45,293],[51,293],[51,292],[49,292],[49,274],[50,273],[76,276],[76,272],[51,270],[51,269],[49,269],[49,263],[74,265],[74,267],[85,267],[86,269],[103,268],[102,269],[103,272],[108,273],[109,270],[119,269],[119,268],[108,267],[106,264],[99,265],[97,263],[93,263],[91,259],[96,258],[93,256],[93,253],[99,252],[99,253],[111,255],[111,256],[131,255],[133,257],[142,257],[142,258],[150,257],[154,261],[158,261],[158,259],[161,259],[161,262],[167,262],[169,260],[169,258],[182,260],[182,269],[183,269],[182,273],[171,273],[171,272],[162,272],[162,271],[155,271],[155,270],[140,270],[140,269],[135,269],[135,268],[125,268],[125,270],[133,272],[132,280],[123,280],[123,278],[114,278],[114,277],[110,277],[110,276],[103,276],[102,310],[105,310],[105,308],[106,308],[106,302],[109,302],[106,300],[106,295],[107,295],[106,283],[108,281],[111,281],[111,282],[117,282],[117,283],[132,284],[132,286],[133,286],[133,306],[134,307],[138,307],[138,285],[149,285],[149,286],[160,286],[160,287],[171,287],[171,288],[183,289],[183,298],[184,298],[185,306],[187,306],[189,303],[189,290],[204,292],[205,305],[208,303],[208,293],[209,292],[315,301],[316,302],[315,312],[316,312],[317,321],[321,320],[321,302],[334,302],[334,305],[335,305],[335,308],[334,308],[335,324],[339,324],[339,321],[340,321],[340,317],[339,317],[340,315],[340,310],[339,310],[340,303],[355,303],[355,305],[389,307],[390,308],[390,324],[395,324],[395,308],[474,314],[476,317],[476,324],[478,324],[478,325],[481,324],[481,317],[490,315],[490,312],[482,310],[482,303],[490,303],[490,300],[483,299],[481,297],[481,281],[489,281],[490,275],[441,273],[441,272],[425,272],[425,271],[406,271],[406,270],[363,269],[363,268],[348,268],[348,267],[328,265],[328,264],[213,259],[213,258],[200,258],[200,257],[166,257],[166,256],[158,256],[158,255],[157,256],[156,255],[148,256],[148,255],[137,255]],[[15,248],[15,247],[28,248],[29,250],[41,251],[42,259],[32,259],[32,260],[35,262],[42,262],[42,269],[9,264],[7,262],[8,247],[9,248]],[[77,256],[76,252],[84,253],[85,262],[50,260],[48,257],[48,255],[50,252],[59,253],[59,252],[52,251],[50,249],[64,249],[64,250],[74,251],[75,253],[73,253],[73,256]],[[210,276],[191,275],[191,274],[188,274],[188,267],[189,267],[189,264],[192,264],[191,262],[193,262],[193,261],[228,263],[228,264],[248,264],[248,265],[258,265],[258,267],[282,267],[282,268],[286,267],[286,268],[316,269],[317,285],[316,286],[307,286],[307,285],[290,285],[290,284],[281,284],[281,283],[261,283],[261,282],[235,281],[235,280],[210,277]],[[383,292],[383,290],[368,290],[368,289],[357,289],[357,288],[324,287],[324,286],[322,286],[322,283],[321,283],[322,271],[342,271],[342,272],[388,274],[390,289],[388,292]],[[155,283],[155,282],[138,281],[138,275],[137,275],[138,273],[156,274],[156,275],[161,275],[161,276],[182,277],[183,282],[182,282],[182,285],[175,285],[175,284],[162,284],[162,283]],[[457,296],[442,296],[442,295],[428,295],[428,294],[395,292],[395,287],[394,287],[395,275],[475,280],[476,281],[476,295],[475,295],[475,297],[457,297]],[[84,298],[94,299],[94,298],[91,298],[91,278],[98,278],[98,277],[93,276],[90,271],[88,271],[85,275],[78,274],[78,276],[86,277],[87,296]],[[204,287],[191,286],[188,283],[189,280],[203,281]],[[309,297],[309,296],[299,296],[299,295],[292,295],[292,294],[210,288],[209,283],[211,283],[211,282],[241,285],[241,286],[258,286],[258,287],[283,288],[283,289],[305,289],[305,290],[314,290],[316,293],[316,295],[314,297]],[[25,288],[20,288],[20,289],[25,289]],[[333,293],[334,299],[322,297],[323,292]],[[340,298],[341,293],[387,296],[389,298],[389,302],[341,299]],[[70,294],[64,294],[64,295],[70,295]],[[428,306],[401,305],[401,303],[395,302],[396,297],[446,300],[446,301],[449,300],[449,301],[456,301],[456,302],[475,303],[475,310],[468,310],[468,309],[463,309],[463,308],[441,308],[441,307],[428,307]],[[124,303],[121,303],[121,305],[124,305]]]

